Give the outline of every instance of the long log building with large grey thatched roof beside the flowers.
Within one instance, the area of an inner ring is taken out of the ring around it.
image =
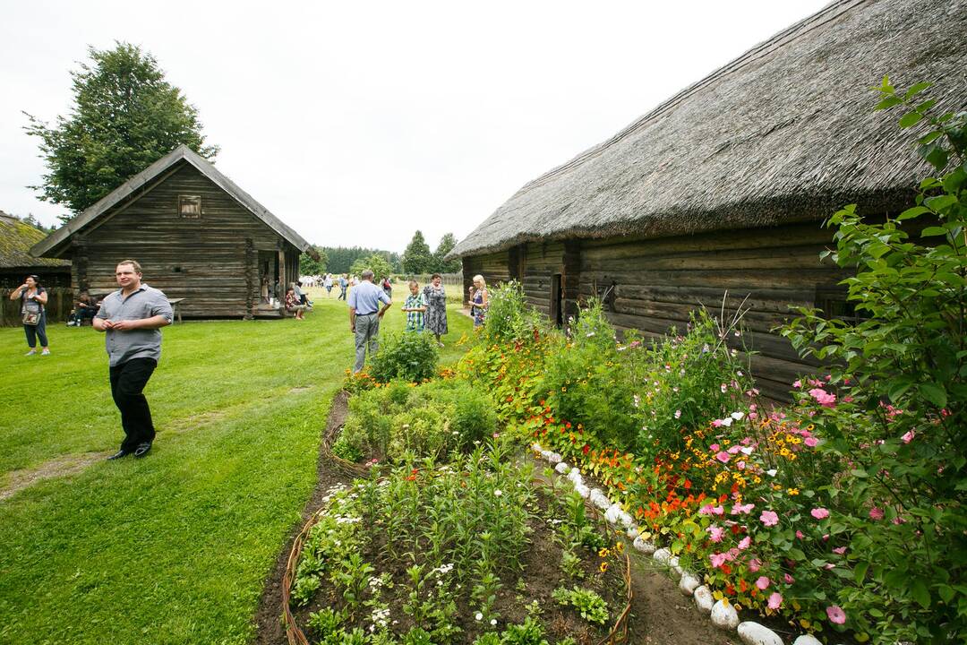
[[[822,220],[898,213],[931,172],[870,88],[931,81],[939,107],[964,109],[964,34],[957,0],[833,2],[528,183],[449,257],[465,287],[517,279],[558,324],[606,294],[616,327],[649,336],[748,296],[752,371],[787,396],[815,364],[771,330],[790,306],[848,314]]]

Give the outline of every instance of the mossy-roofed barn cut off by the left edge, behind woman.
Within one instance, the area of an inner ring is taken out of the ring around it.
[[[0,211],[0,287],[15,287],[31,274],[47,286],[71,285],[70,262],[30,254],[44,237],[41,229]]]

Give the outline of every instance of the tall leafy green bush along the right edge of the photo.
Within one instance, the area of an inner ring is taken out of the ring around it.
[[[943,642],[967,632],[967,112],[933,114],[927,83],[897,92],[884,78],[877,109],[902,107],[900,128],[925,125],[917,153],[940,174],[917,203],[882,222],[855,205],[837,212],[830,253],[857,321],[820,312],[783,330],[804,354],[833,365],[829,383],[807,383],[801,418],[827,441],[820,450],[849,474],[821,487],[830,531],[849,541],[847,583],[827,593],[844,628],[879,642]],[[889,402],[888,402],[889,401]]]

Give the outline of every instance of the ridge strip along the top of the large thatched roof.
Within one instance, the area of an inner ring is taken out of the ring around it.
[[[728,75],[730,73],[735,73],[744,69],[747,65],[758,60],[765,54],[770,53],[779,47],[792,43],[793,41],[799,38],[802,38],[812,30],[822,27],[823,25],[834,20],[840,15],[846,14],[847,12],[854,9],[857,5],[862,5],[867,2],[870,2],[870,0],[835,0],[834,2],[831,2],[830,4],[828,4],[826,7],[823,7],[815,14],[808,15],[802,20],[799,20],[798,22],[795,22],[789,27],[782,29],[781,31],[773,35],[771,38],[769,38],[768,40],[752,46],[745,53],[741,54],[738,58],[735,58],[729,61],[725,65],[719,67],[714,72],[709,73],[706,76],[703,76],[702,78],[695,81],[688,87],[679,91],[671,98],[666,99],[665,101],[659,103],[653,109],[651,109],[650,111],[646,112],[644,115],[632,121],[630,125],[626,126],[622,130],[620,130],[619,132],[611,136],[610,138],[602,141],[597,145],[592,146],[591,148],[588,148],[584,152],[578,154],[576,157],[571,159],[571,161],[566,161],[561,165],[551,168],[550,170],[542,174],[540,177],[536,179],[532,179],[531,181],[527,182],[518,191],[513,193],[511,199],[526,191],[529,191],[531,189],[541,186],[547,181],[556,178],[557,176],[563,174],[564,172],[567,172],[571,168],[584,163],[584,161],[597,157],[603,151],[610,148],[618,141],[621,141],[622,139],[630,136],[631,134],[638,132],[647,123],[653,121],[655,118],[659,116],[662,116],[672,107],[676,106],[678,103],[681,103],[685,99],[688,99],[695,92],[701,89],[704,89],[706,86],[710,85],[714,81],[717,81],[719,78],[725,75]],[[840,10],[840,11],[838,11],[835,15],[828,16],[828,14],[833,13],[835,10]],[[804,29],[807,23],[813,23],[813,24],[811,24],[811,26],[809,26],[808,29]]]

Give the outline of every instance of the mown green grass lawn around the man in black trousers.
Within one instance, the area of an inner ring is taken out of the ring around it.
[[[27,358],[22,330],[0,329],[0,489],[12,471],[103,453],[0,501],[0,642],[249,641],[352,365],[345,305],[320,291],[304,322],[163,330],[147,390],[158,438],[142,460],[101,458],[123,436],[102,335],[55,325],[53,355]],[[403,326],[395,295],[383,333]],[[449,317],[444,363],[471,329]]]

